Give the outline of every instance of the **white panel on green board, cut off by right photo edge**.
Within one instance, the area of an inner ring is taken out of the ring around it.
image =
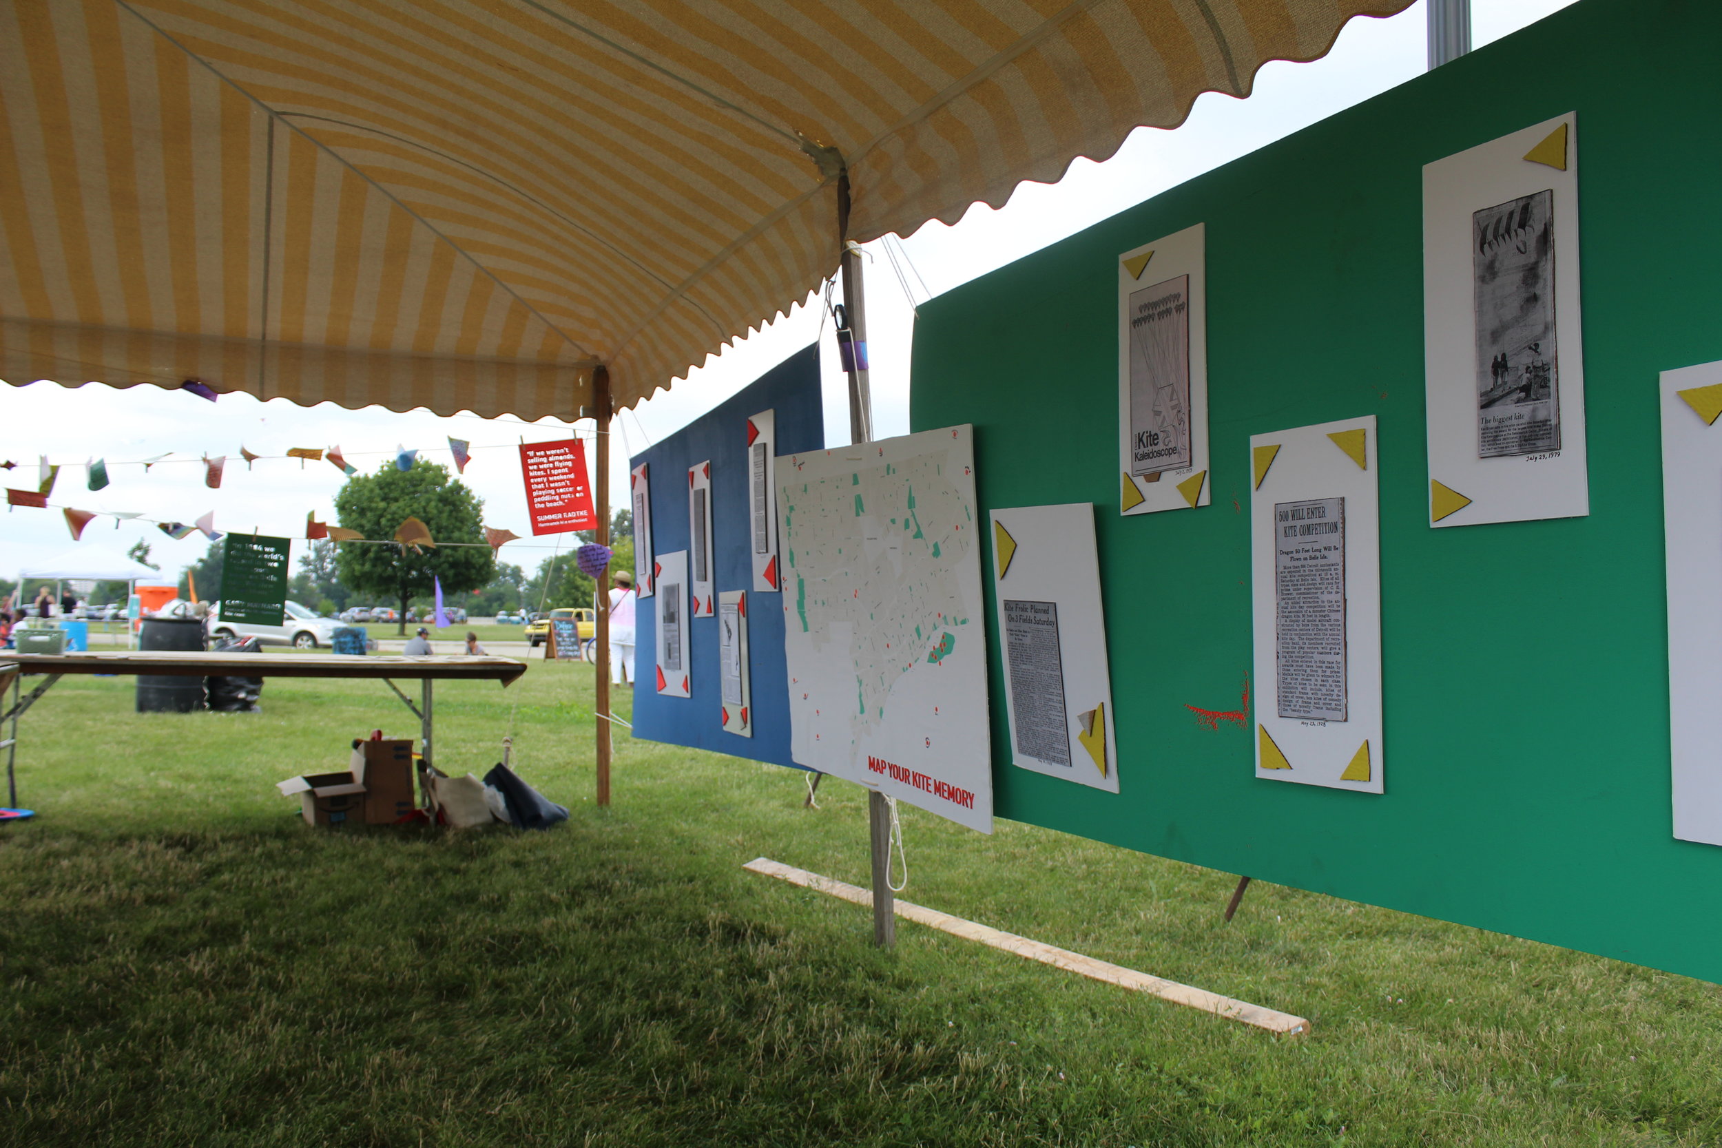
[[[1662,372],[1674,836],[1722,845],[1722,363]]]

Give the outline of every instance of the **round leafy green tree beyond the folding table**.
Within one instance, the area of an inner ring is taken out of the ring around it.
[[[465,484],[449,478],[437,463],[415,463],[398,470],[382,463],[374,475],[353,475],[334,499],[343,527],[372,542],[343,542],[336,551],[341,582],[360,594],[401,604],[400,633],[406,633],[406,611],[413,596],[430,594],[441,578],[444,594],[477,590],[496,577],[496,552],[484,542],[484,501]],[[430,530],[436,542],[479,542],[480,546],[434,546],[422,552],[377,540],[393,539],[408,518]]]

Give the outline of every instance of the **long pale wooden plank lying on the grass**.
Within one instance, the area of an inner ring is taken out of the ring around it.
[[[785,866],[768,857],[756,857],[742,867],[749,873],[759,873],[768,878],[789,881],[790,885],[801,885],[802,888],[830,893],[832,897],[840,897],[858,905],[873,904],[871,890],[864,890],[859,885],[833,881],[832,878],[820,876],[818,873],[808,873],[806,869]],[[1085,957],[1068,948],[1031,941],[1026,936],[1004,933],[985,924],[976,924],[975,921],[964,921],[963,917],[952,917],[949,912],[926,909],[925,905],[916,905],[907,900],[897,900],[897,916],[944,933],[951,933],[952,936],[961,936],[1007,954],[1016,954],[1018,957],[1050,964],[1068,972],[1080,972],[1081,976],[1093,978],[1095,981],[1106,981],[1107,984],[1118,984],[1119,988],[1149,993],[1150,997],[1169,1000],[1174,1005],[1186,1005],[1190,1009],[1200,1009],[1202,1012],[1212,1012],[1214,1015],[1226,1017],[1228,1021],[1254,1024],[1255,1028],[1267,1029],[1269,1033],[1283,1033],[1285,1036],[1305,1036],[1309,1033],[1309,1021],[1295,1017],[1290,1012],[1262,1009],[1261,1005],[1252,1005],[1245,1000],[1233,1000],[1231,997],[1221,997],[1219,993],[1211,993],[1204,988],[1192,988],[1190,984],[1180,984],[1178,981],[1168,981],[1159,976],[1149,976],[1147,972],[1137,972],[1135,969],[1126,969],[1124,966],[1095,960],[1093,957]]]

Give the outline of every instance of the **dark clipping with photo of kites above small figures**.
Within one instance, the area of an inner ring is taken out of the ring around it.
[[[1472,213],[1477,458],[1560,449],[1553,191]]]

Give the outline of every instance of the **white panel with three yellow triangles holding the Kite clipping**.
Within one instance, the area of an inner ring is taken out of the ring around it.
[[[1118,256],[1119,509],[1207,506],[1207,255],[1202,224]]]

